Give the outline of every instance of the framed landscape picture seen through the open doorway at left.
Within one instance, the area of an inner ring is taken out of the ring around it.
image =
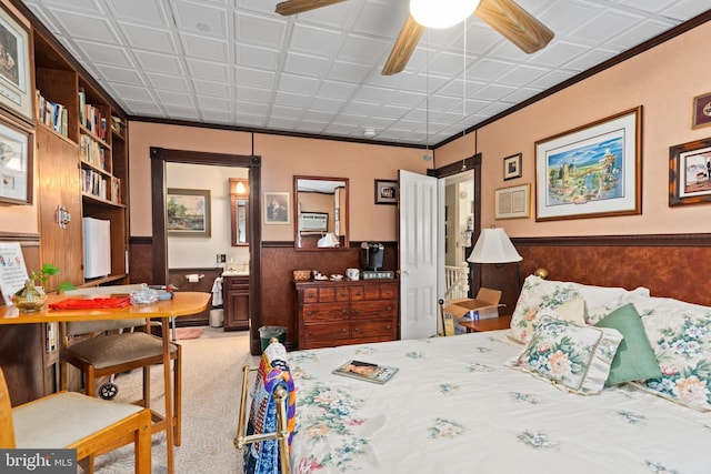
[[[210,236],[210,190],[169,188],[166,211],[169,236]]]

